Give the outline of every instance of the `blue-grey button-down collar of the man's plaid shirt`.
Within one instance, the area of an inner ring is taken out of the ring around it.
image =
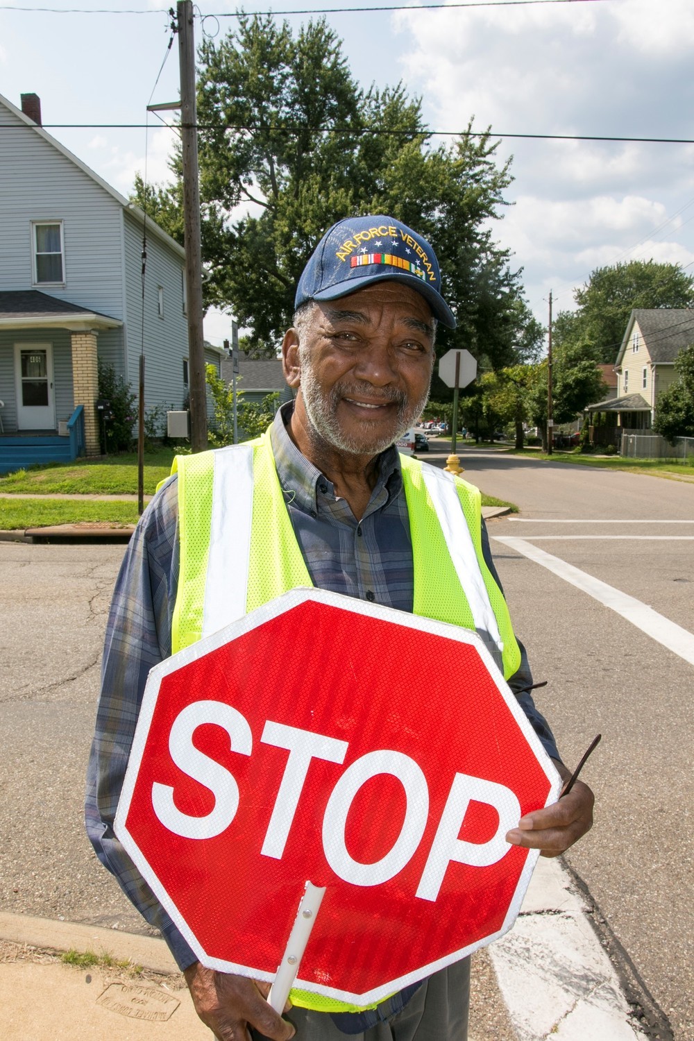
[[[319,486],[327,485],[327,492],[323,493],[334,496],[334,490],[328,478],[299,451],[289,436],[287,425],[291,418],[293,407],[292,401],[282,405],[269,428],[269,441],[273,446],[277,476],[283,490],[291,497],[290,502],[295,503],[300,509],[307,513],[312,510],[317,512]],[[378,457],[378,478],[371,492],[371,499],[378,496],[383,488],[387,488],[388,498],[394,498],[403,486],[400,456],[394,446],[381,453]]]

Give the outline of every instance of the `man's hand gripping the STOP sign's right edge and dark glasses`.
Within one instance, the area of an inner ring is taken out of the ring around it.
[[[563,763],[554,762],[566,784],[569,771]],[[507,833],[506,841],[540,849],[543,857],[559,857],[593,827],[594,802],[595,796],[588,785],[576,781],[568,795],[560,795],[554,806],[521,817],[518,827]]]

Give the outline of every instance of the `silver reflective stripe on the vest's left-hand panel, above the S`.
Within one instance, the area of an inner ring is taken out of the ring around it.
[[[220,449],[214,453],[203,636],[246,614],[252,523],[253,449]]]

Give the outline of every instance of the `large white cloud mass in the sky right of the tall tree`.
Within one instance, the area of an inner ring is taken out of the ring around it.
[[[691,0],[405,11],[393,22],[404,78],[436,129],[474,115],[492,134],[691,136]],[[552,283],[570,307],[572,287],[600,264],[694,256],[694,223],[676,215],[694,202],[694,147],[504,138],[496,154],[513,154],[514,205],[492,233],[523,268],[538,316]]]

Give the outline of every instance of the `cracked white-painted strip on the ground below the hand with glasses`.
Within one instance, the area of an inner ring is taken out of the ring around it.
[[[515,925],[488,948],[518,1041],[643,1041],[589,911],[567,868],[540,857]]]

